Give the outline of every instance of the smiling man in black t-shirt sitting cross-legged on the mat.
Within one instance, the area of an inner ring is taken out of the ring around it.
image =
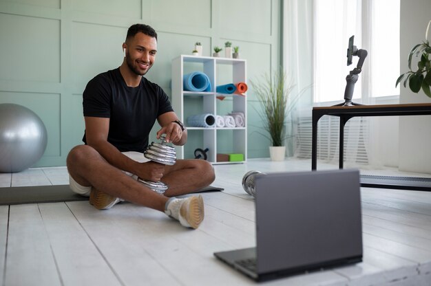
[[[143,155],[156,120],[161,126],[158,139],[165,135],[175,145],[187,141],[187,129],[165,92],[143,77],[156,58],[156,31],[148,25],[132,25],[123,51],[120,67],[90,80],[83,92],[85,145],[72,148],[67,156],[70,187],[90,196],[90,203],[101,210],[126,200],[198,228],[204,218],[202,196],[174,196],[211,184],[215,178],[211,164],[202,159],[178,159],[165,166]],[[138,179],[163,181],[168,189],[160,195]]]

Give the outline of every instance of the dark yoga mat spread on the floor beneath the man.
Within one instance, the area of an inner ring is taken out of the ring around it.
[[[218,192],[220,190],[224,189],[207,186],[195,192]],[[88,197],[75,194],[70,190],[69,185],[0,188],[0,206],[61,201],[88,201]]]

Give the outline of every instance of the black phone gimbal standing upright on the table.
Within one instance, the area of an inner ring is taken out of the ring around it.
[[[352,64],[353,56],[359,56],[359,61],[355,69],[351,70],[346,76],[346,90],[344,91],[344,102],[335,104],[334,106],[349,106],[349,105],[362,105],[359,103],[352,102],[353,91],[355,90],[355,83],[359,78],[359,74],[362,71],[362,65],[364,65],[365,58],[368,55],[366,50],[357,50],[357,47],[353,45],[353,39],[355,36],[351,36],[348,39],[348,49],[347,49],[347,65]]]

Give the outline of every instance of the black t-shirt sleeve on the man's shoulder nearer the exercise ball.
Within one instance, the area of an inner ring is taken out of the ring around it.
[[[88,82],[83,92],[84,116],[109,118],[111,96],[108,80],[101,75]]]

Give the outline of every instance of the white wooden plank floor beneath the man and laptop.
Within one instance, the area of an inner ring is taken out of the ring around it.
[[[251,159],[214,168],[213,186],[225,190],[203,194],[198,230],[132,203],[105,211],[87,201],[0,206],[1,285],[254,285],[213,256],[255,245],[253,199],[242,176],[310,170],[311,162]],[[0,174],[3,187],[67,183],[63,167]],[[362,188],[361,197],[363,263],[262,284],[431,285],[431,192]]]

